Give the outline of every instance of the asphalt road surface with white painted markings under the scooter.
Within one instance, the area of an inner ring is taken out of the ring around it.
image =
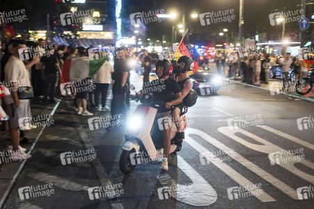
[[[141,78],[133,73],[131,81],[140,90]],[[243,84],[226,85],[230,88],[199,96],[189,108],[182,150],[171,155],[168,171],[162,171],[161,162],[148,162],[126,176],[119,169],[125,129],[91,130],[88,118],[109,113],[78,116],[70,109],[71,100],[63,98],[54,124],[41,133],[36,130],[38,143],[3,208],[313,208],[313,102]],[[131,102],[129,114],[136,105]],[[310,116],[312,124],[298,122]],[[90,162],[62,161],[63,153],[93,154],[93,149],[97,154]],[[298,153],[269,157],[285,150]],[[24,190],[21,199],[22,187],[49,184],[54,194],[41,192],[27,199]],[[101,185],[113,185],[120,195],[91,198],[88,188]],[[175,186],[185,193],[168,198],[162,187]],[[298,196],[301,187],[304,196]]]

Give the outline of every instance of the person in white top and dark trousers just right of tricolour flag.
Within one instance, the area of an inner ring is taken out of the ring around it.
[[[110,75],[113,73],[113,68],[109,61],[105,61],[100,70],[96,74],[95,79],[95,109],[99,110],[99,98],[102,95],[102,111],[108,111],[106,108],[107,92],[110,84]]]

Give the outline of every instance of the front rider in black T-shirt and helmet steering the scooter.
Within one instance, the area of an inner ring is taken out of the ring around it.
[[[151,86],[158,87],[162,85],[162,88],[150,88],[150,89],[159,89],[161,91],[152,91],[152,95],[156,100],[166,102],[166,109],[158,109],[156,118],[171,118],[171,111],[169,110],[171,106],[178,105],[182,103],[182,93],[180,86],[174,79],[169,77],[172,75],[173,65],[170,61],[164,59],[162,61],[157,61],[156,63],[156,74],[158,79],[150,82]],[[143,92],[144,91],[144,92]],[[148,92],[148,88],[143,88],[143,91],[140,95]],[[169,93],[173,93],[175,98],[173,100],[168,98]],[[171,133],[171,124],[168,125],[168,128],[161,130],[162,140],[164,147],[164,159],[162,160],[162,169],[168,170],[168,155],[171,146],[170,133]]]

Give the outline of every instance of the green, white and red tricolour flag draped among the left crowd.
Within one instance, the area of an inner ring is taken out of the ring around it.
[[[91,78],[100,70],[105,61],[105,58],[91,61],[88,56],[67,59],[62,66],[61,83],[79,82],[87,77]]]

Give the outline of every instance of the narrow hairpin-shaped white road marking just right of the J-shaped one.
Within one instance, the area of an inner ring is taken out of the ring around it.
[[[194,139],[191,139],[191,137],[189,137],[189,134],[197,134],[198,136],[202,137],[203,139],[210,142],[214,146],[217,146],[217,148],[225,151],[226,153],[230,153],[230,148],[228,148],[227,146],[224,146],[219,141],[210,137],[208,134],[206,134],[205,132],[202,132],[201,130],[196,130],[194,128],[188,127],[187,130],[185,130],[185,132],[186,132],[185,141],[191,147],[193,147],[195,150],[198,151],[198,153],[200,153],[201,155],[206,157],[207,160],[212,162],[212,164],[214,164],[216,167],[221,169],[221,171],[223,171],[228,176],[230,176],[230,178],[235,180],[239,185],[241,185],[242,187],[246,187],[247,185],[254,185],[250,180],[248,180],[247,178],[242,176],[240,173],[235,171],[235,169],[228,166],[228,164],[223,162],[218,157],[215,157],[215,155],[213,153],[211,153],[209,150],[207,150],[206,148],[201,146],[201,144],[198,144],[198,142],[196,142]],[[206,153],[210,153],[210,156],[208,154],[206,155]],[[233,152],[233,153],[236,155],[235,157],[237,157],[239,155],[236,152]],[[230,156],[230,157],[232,157],[232,156]],[[235,157],[233,157],[233,158],[235,159]],[[240,157],[242,157],[242,156],[240,156]],[[246,160],[244,157],[242,157],[242,158],[244,161],[249,162],[249,160]],[[251,192],[252,195],[256,196],[256,198],[262,202],[276,201],[276,199],[272,198],[272,196],[269,196],[269,194],[267,194],[265,191],[261,192],[260,194],[255,194],[255,190],[254,189],[252,190],[249,188],[249,192]],[[297,192],[296,192],[296,194],[297,194]]]

